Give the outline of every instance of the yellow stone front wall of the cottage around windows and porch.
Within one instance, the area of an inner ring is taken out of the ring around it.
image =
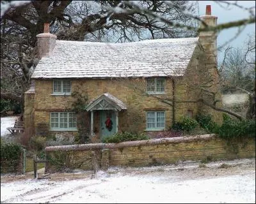
[[[180,99],[186,99],[188,93],[186,87],[177,85],[175,94],[179,94]],[[72,108],[72,96],[54,96],[52,95],[52,80],[36,80],[35,87],[35,127],[37,124],[49,124],[50,112],[65,111]],[[99,97],[104,92],[109,92],[120,99],[127,106],[127,110],[118,113],[119,131],[138,131],[143,132],[146,128],[147,111],[165,111],[166,129],[172,126],[173,109],[171,105],[162,103],[159,99],[148,97],[145,91],[145,79],[84,79],[72,80],[72,91],[88,94],[89,101]],[[166,95],[157,95],[157,97],[168,96],[172,98],[172,80],[166,80]],[[179,104],[175,114],[178,118],[186,115],[188,107],[195,109],[195,105]],[[196,110],[194,110],[196,112]],[[94,115],[94,128],[96,138],[99,139],[99,112]],[[99,142],[99,140],[95,140]]]

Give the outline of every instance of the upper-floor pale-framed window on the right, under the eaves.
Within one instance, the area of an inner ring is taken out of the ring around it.
[[[165,79],[164,78],[148,78],[147,93],[148,94],[164,94]]]

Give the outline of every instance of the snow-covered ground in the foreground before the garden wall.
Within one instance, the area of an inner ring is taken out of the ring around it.
[[[255,159],[86,172],[1,177],[1,203],[255,203]]]

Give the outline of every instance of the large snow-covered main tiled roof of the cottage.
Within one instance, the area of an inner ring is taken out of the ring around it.
[[[198,38],[99,43],[56,40],[32,78],[109,78],[182,76]]]

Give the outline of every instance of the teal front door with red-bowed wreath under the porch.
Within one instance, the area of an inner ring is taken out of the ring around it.
[[[111,124],[111,125],[109,125]],[[116,133],[116,113],[112,110],[100,111],[100,139]]]

